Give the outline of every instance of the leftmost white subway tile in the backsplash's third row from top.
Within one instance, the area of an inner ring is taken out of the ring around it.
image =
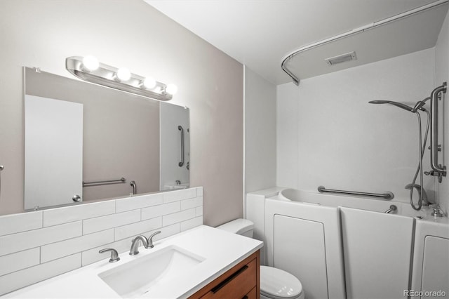
[[[38,247],[0,256],[0,276],[39,265],[40,253]]]

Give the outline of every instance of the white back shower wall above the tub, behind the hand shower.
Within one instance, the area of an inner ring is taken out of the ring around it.
[[[408,202],[418,164],[410,112],[370,105],[414,105],[434,89],[434,48],[277,86],[278,186],[394,193]],[[439,81],[441,84],[441,80]],[[429,107],[429,105],[426,105]],[[428,171],[429,151],[424,157]],[[429,197],[434,178],[424,176]],[[416,195],[416,194],[415,194]]]

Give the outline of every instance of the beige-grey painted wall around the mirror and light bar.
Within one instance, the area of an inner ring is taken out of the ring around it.
[[[243,66],[140,0],[0,2],[0,214],[23,208],[22,66],[66,77],[65,58],[95,55],[179,87],[191,109],[190,182],[203,217],[243,215]]]

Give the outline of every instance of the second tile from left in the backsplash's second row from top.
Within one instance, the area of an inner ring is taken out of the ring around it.
[[[107,230],[121,225],[127,225],[140,221],[140,210],[133,210],[124,213],[116,213],[112,215],[91,218],[83,220],[83,234],[91,234]]]

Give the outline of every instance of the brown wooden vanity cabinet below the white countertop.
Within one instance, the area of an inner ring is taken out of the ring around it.
[[[260,251],[248,256],[189,298],[259,299]]]

